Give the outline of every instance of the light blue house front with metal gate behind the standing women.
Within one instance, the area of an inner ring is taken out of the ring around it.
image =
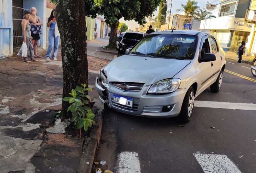
[[[31,7],[37,9],[37,16],[43,21],[43,34],[38,46],[46,48],[46,0],[4,0],[0,2],[0,58],[11,56],[13,49],[21,47],[21,21],[24,11]]]

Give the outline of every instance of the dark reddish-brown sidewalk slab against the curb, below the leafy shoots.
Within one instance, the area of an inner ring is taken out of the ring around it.
[[[65,134],[47,134],[31,163],[35,172],[76,172],[82,152],[83,139]]]

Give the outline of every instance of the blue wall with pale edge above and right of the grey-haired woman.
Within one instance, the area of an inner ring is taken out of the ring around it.
[[[47,25],[44,21],[44,13],[46,13],[46,7],[44,7],[44,0],[23,0],[23,8],[30,9],[31,7],[35,7],[37,10],[37,16],[39,16],[43,22],[43,25]],[[45,11],[44,11],[45,9]],[[43,34],[40,35],[39,46],[44,44],[44,26],[41,26]]]

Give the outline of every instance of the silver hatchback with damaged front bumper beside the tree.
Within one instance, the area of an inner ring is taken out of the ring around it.
[[[126,33],[127,34],[127,33]],[[208,32],[154,32],[100,71],[100,100],[116,111],[188,122],[206,88],[220,91],[225,54]]]

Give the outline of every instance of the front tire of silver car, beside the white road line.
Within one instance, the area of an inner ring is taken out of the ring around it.
[[[194,100],[195,100],[195,90],[194,90],[194,87],[191,86],[184,97],[184,100],[181,106],[181,112],[178,115],[178,119],[180,122],[187,123],[190,121],[190,117],[192,115],[193,107],[194,107]]]

